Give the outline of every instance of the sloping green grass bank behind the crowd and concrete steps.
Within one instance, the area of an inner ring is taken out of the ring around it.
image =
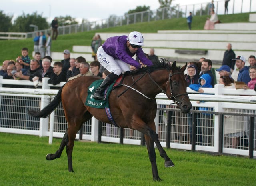
[[[204,23],[208,16],[194,16],[192,23],[192,30],[202,30]],[[248,22],[249,13],[243,14],[229,14],[219,15],[222,23],[228,22]],[[188,30],[186,18],[172,18],[167,20],[158,20],[151,22],[136,23],[113,28],[98,29],[90,32],[79,32],[76,34],[59,35],[57,40],[52,42],[52,51],[62,52],[64,49],[72,51],[73,45],[90,46],[92,37],[95,32],[125,32],[138,30],[142,33],[156,33],[158,30]],[[29,56],[33,51],[34,42],[32,38],[25,40],[0,40],[0,65],[6,59],[16,59],[21,55],[21,49],[27,47],[29,49]],[[164,47],[164,46],[163,46]]]

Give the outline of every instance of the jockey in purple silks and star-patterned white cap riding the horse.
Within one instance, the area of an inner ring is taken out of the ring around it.
[[[104,100],[104,90],[107,86],[112,84],[122,72],[130,70],[128,64],[136,68],[152,65],[152,62],[146,58],[141,48],[143,45],[142,34],[134,31],[128,36],[110,37],[98,48],[98,61],[111,73],[106,76],[100,87],[95,91],[93,95],[94,99]],[[132,58],[135,54],[142,64]]]

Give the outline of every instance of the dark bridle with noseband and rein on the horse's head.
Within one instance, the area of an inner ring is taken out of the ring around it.
[[[169,78],[168,78],[168,81],[166,82],[166,84],[169,82],[169,85],[170,85],[170,92],[171,92],[170,100],[173,100],[173,103],[171,103],[171,104],[175,104],[175,103],[176,103],[176,104],[179,106],[179,108],[180,108],[180,104],[182,103],[182,101],[184,100],[184,98],[186,98],[186,97],[188,96],[188,94],[187,94],[187,93],[183,93],[183,94],[177,94],[176,96],[173,95],[172,76],[175,76],[175,75],[178,75],[178,74],[182,74],[182,75],[183,75],[182,72],[176,72],[176,73],[173,73],[173,74],[171,74],[171,72],[170,72]],[[154,82],[154,84],[156,84],[156,86],[158,86],[158,88],[160,88],[160,90],[162,90],[162,92],[167,95],[166,91],[164,91],[164,89],[162,89],[162,88],[158,85],[158,83],[150,76],[150,73],[149,73],[149,72],[148,72],[148,75],[149,75],[150,79],[152,80],[152,82]],[[178,102],[178,100],[177,100],[177,98],[178,98],[179,96],[184,96],[184,97],[181,99],[180,102]]]

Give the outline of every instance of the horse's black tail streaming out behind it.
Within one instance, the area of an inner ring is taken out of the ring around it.
[[[57,95],[54,97],[54,99],[48,104],[46,107],[43,108],[41,111],[36,111],[36,110],[28,110],[28,114],[35,117],[35,118],[46,118],[49,116],[52,111],[60,104],[61,102],[61,92],[62,88],[64,86],[60,87],[60,90],[58,91]]]

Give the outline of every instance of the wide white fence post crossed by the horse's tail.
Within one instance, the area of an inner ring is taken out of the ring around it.
[[[47,82],[50,78],[42,78],[42,89],[50,89]],[[46,105],[49,104],[49,96],[42,95],[41,96],[41,107],[42,110]],[[48,131],[48,120],[49,118],[40,118],[40,126],[39,126],[39,136],[46,136],[46,132]]]

